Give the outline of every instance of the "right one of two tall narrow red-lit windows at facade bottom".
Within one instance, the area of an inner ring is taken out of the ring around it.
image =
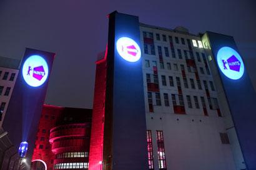
[[[163,131],[157,131],[157,155],[159,169],[166,169]]]

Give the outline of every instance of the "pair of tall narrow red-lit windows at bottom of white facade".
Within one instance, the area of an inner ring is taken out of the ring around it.
[[[163,134],[163,131],[155,131],[155,132],[157,136],[157,156],[158,156],[159,169],[166,169],[164,134]],[[154,169],[152,133],[150,130],[147,130],[147,156],[148,156],[149,169]]]

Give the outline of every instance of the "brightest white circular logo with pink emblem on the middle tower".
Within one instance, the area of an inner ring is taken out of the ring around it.
[[[128,37],[122,37],[116,42],[117,52],[129,62],[137,62],[140,59],[141,51],[139,45]]]

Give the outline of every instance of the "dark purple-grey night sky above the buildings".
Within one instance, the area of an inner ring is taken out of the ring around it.
[[[46,103],[91,108],[106,16],[117,10],[145,24],[234,36],[256,87],[255,9],[255,0],[0,0],[0,56],[21,59],[25,47],[55,52]]]

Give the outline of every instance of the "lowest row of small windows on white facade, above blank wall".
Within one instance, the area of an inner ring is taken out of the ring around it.
[[[194,100],[194,106],[195,108],[200,108],[199,106],[199,98],[197,96],[193,96],[192,97]],[[186,100],[187,100],[187,106],[189,108],[193,108],[192,106],[192,98],[190,97],[190,95],[186,95]],[[184,98],[183,95],[178,95],[178,94],[171,94],[171,99],[172,99],[172,105],[176,106],[184,106]],[[148,92],[147,93],[147,100],[149,102],[149,105],[153,104],[153,97],[152,97],[152,92]],[[219,103],[217,98],[207,98],[208,103],[209,103],[209,108],[212,110],[217,110],[219,109]],[[200,101],[202,103],[202,107],[206,108],[206,102],[205,102],[205,98],[204,97],[200,97]],[[156,92],[155,93],[155,105],[157,106],[161,106],[162,105],[162,100],[160,97],[160,93]],[[170,102],[169,102],[169,94],[168,93],[164,93],[164,106],[170,106]]]

